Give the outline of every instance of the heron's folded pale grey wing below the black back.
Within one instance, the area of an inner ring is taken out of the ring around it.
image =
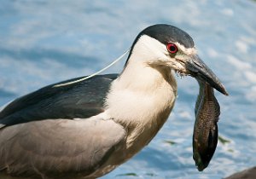
[[[0,170],[14,176],[90,175],[125,141],[112,119],[48,119],[0,130]]]

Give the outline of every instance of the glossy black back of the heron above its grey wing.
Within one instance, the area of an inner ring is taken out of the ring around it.
[[[0,124],[14,125],[47,118],[90,118],[103,112],[104,99],[117,77],[118,74],[97,75],[75,84],[46,86],[12,101],[0,112]]]

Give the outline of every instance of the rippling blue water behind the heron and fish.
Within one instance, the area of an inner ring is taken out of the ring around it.
[[[84,76],[131,46],[137,33],[172,24],[194,38],[222,80],[218,142],[203,172],[192,159],[198,84],[177,78],[178,99],[160,133],[103,178],[218,179],[256,165],[256,2],[0,0],[0,106],[46,84]],[[120,72],[125,60],[108,72]],[[174,144],[171,144],[173,141]]]

